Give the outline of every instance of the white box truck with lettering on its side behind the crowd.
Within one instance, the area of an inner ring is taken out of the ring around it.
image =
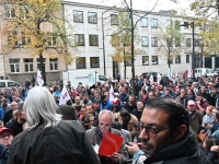
[[[78,87],[79,82],[84,86],[88,84],[92,86],[96,82],[104,84],[108,79],[105,75],[97,74],[95,70],[69,70],[62,72],[64,84],[67,84],[68,81],[71,82],[73,89]]]

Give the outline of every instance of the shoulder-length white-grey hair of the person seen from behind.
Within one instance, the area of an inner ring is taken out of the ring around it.
[[[56,127],[61,120],[61,115],[57,114],[58,106],[46,87],[35,86],[28,91],[24,102],[24,112],[28,128],[35,128],[44,124],[44,128]]]

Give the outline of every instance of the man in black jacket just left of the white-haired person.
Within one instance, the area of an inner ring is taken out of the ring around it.
[[[11,124],[7,125],[7,128],[10,128],[13,130],[13,137],[15,137],[16,134],[23,131],[23,124],[26,121],[26,115],[24,110],[19,109],[15,115],[16,115],[16,119],[12,121]]]

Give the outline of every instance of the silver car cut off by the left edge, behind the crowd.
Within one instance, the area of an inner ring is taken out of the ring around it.
[[[5,93],[9,94],[12,91],[12,87],[16,87],[19,92],[22,90],[22,85],[12,80],[0,80],[0,90],[4,89]]]

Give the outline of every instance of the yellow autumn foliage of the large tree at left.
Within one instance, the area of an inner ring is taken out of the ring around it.
[[[61,0],[2,0],[3,3],[11,3],[16,9],[15,19],[8,21],[3,28],[3,35],[8,43],[3,45],[4,51],[11,51],[18,47],[25,48],[32,57],[44,54],[49,57],[62,58],[70,65],[76,58],[76,48],[67,35],[62,20]],[[25,5],[24,11],[20,11]],[[25,16],[24,16],[25,14]],[[46,24],[44,24],[46,22]],[[13,36],[12,37],[12,33]],[[69,47],[69,48],[68,48]]]

